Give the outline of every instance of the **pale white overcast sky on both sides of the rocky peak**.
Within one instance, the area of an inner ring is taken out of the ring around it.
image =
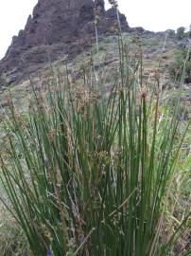
[[[12,36],[25,27],[27,16],[37,2],[38,0],[1,0],[0,59],[8,49]],[[120,11],[126,14],[130,27],[162,31],[167,28],[189,27],[191,24],[191,0],[118,0],[118,3]]]

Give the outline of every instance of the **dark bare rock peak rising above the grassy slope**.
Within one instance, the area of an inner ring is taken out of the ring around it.
[[[25,29],[12,38],[6,56],[0,61],[0,74],[6,73],[9,83],[16,83],[25,77],[26,68],[34,71],[61,54],[72,58],[91,46],[95,9],[99,11],[100,34],[111,32],[117,22],[115,9],[106,11],[104,6],[104,0],[39,0]],[[119,18],[122,29],[128,31],[125,15],[119,13]]]

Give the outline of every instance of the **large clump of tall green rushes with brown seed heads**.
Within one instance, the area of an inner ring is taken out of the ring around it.
[[[144,82],[141,46],[134,60],[120,33],[118,46],[107,95],[91,66],[80,85],[66,71],[43,95],[31,82],[25,115],[10,106],[8,147],[0,156],[9,200],[2,201],[31,255],[173,255],[187,231],[190,214],[184,212],[164,239],[189,128],[182,130],[179,119],[180,94],[175,107],[167,106],[160,78],[152,90]]]

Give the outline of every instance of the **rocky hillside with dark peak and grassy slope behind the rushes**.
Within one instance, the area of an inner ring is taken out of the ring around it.
[[[166,31],[153,33],[142,27],[132,28],[121,13],[119,19],[124,44],[131,55],[137,53],[137,36],[141,40],[146,81],[149,82],[155,75],[160,62],[162,87],[174,86],[169,78],[168,67],[173,62],[175,51],[180,47],[175,32],[168,30],[167,34]],[[1,91],[9,85],[16,85],[15,95],[21,103],[28,91],[28,74],[39,86],[48,77],[50,62],[55,64],[59,60],[60,67],[64,70],[67,60],[71,79],[74,81],[81,77],[80,66],[88,62],[92,54],[95,64],[104,66],[105,79],[109,74],[108,80],[111,80],[113,70],[119,62],[116,27],[116,10],[106,10],[104,0],[39,0],[27,19],[25,29],[12,38],[5,58],[0,61]],[[5,93],[0,94],[1,106],[8,104],[4,95]],[[189,86],[186,87],[186,97],[187,95],[186,99],[190,101]]]

